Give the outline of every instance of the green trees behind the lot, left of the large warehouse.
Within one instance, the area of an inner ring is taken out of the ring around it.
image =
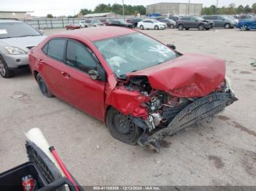
[[[99,12],[116,12],[118,15],[123,15],[123,5],[122,4],[98,4],[94,10],[80,9],[80,14],[86,15],[89,13],[99,13]],[[143,5],[127,5],[124,4],[124,15],[146,15],[146,7]]]

